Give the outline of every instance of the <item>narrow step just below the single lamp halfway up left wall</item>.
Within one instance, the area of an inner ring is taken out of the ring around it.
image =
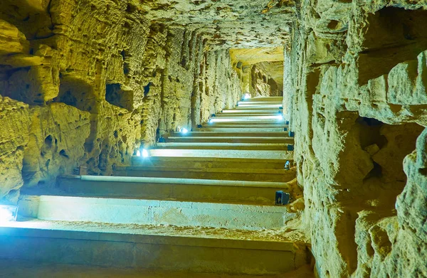
[[[293,144],[293,137],[167,137],[167,143],[253,143],[253,144]]]

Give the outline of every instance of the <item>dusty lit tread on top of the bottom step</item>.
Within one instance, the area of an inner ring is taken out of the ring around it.
[[[80,221],[20,218],[5,223],[0,235],[70,237],[70,239],[147,242],[150,244],[233,247],[260,250],[305,248],[300,231],[285,229],[250,231],[224,228],[179,227],[173,225],[106,224]],[[300,243],[300,245],[298,245]],[[227,246],[228,245],[228,246]]]

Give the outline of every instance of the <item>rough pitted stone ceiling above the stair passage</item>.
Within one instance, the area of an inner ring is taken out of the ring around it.
[[[214,48],[282,46],[295,19],[290,0],[140,0],[137,6],[152,21],[206,33]]]

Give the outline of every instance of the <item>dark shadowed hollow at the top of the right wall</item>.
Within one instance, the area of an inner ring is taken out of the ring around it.
[[[367,21],[364,50],[359,53],[359,85],[427,49],[427,11],[390,7],[370,14]]]

